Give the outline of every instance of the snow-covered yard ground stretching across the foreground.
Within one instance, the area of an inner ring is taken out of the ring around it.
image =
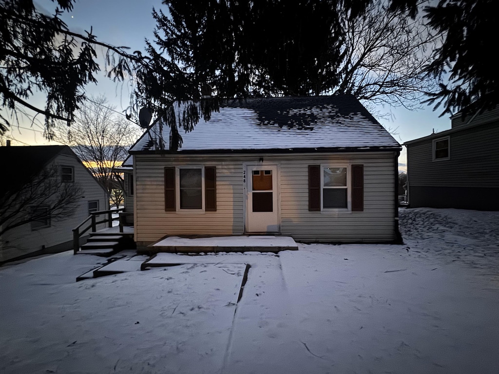
[[[209,254],[81,282],[105,260],[5,265],[0,373],[499,373],[499,212],[400,216],[404,245]]]

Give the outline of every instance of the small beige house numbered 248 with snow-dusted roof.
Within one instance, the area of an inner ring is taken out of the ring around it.
[[[159,124],[130,149],[138,245],[167,235],[399,239],[401,146],[351,95],[230,100],[181,132],[176,152]]]

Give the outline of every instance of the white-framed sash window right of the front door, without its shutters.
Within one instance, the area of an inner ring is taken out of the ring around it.
[[[347,166],[323,166],[322,209],[348,209],[349,171]]]

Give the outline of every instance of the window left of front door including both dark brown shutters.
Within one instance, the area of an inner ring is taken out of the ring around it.
[[[216,168],[165,168],[166,211],[216,211]]]

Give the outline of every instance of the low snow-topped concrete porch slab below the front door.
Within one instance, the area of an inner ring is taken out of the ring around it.
[[[279,252],[298,250],[290,236],[240,235],[186,238],[169,236],[148,246],[153,253],[200,253],[200,252]]]

